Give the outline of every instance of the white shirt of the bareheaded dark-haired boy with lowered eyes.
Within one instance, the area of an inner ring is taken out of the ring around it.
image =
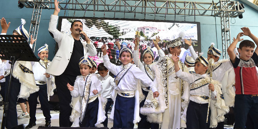
[[[114,82],[115,79],[109,76],[108,74],[105,77],[99,76],[98,79],[102,84],[102,92],[101,92],[102,96],[107,99],[111,98],[113,88],[116,85]]]

